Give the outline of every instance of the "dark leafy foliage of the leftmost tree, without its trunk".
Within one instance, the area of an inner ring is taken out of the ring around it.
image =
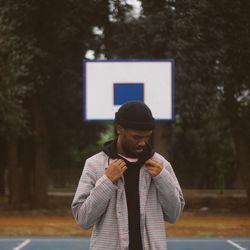
[[[32,39],[21,38],[18,34],[20,16],[17,16],[15,11],[21,11],[21,7],[22,5],[9,1],[1,3],[0,8],[0,134],[2,135],[10,132],[19,134],[26,127],[24,99],[33,85],[33,82],[27,81],[28,67],[34,62],[34,55],[39,53]]]

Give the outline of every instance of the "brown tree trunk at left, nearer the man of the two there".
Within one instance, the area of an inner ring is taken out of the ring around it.
[[[48,207],[48,132],[45,115],[39,96],[32,99],[33,127],[34,127],[34,193],[35,208]]]

